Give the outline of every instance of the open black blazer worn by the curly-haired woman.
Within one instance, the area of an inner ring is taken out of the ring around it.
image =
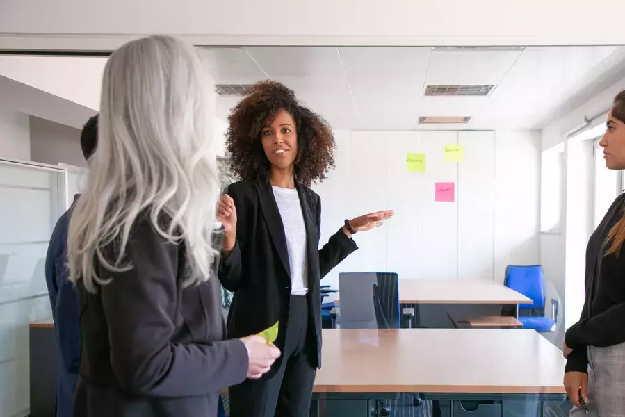
[[[306,227],[308,259],[309,312],[314,318],[317,341],[317,366],[321,366],[320,279],[350,253],[358,249],[354,241],[339,230],[321,249],[321,200],[310,188],[297,186]],[[291,298],[291,272],[286,250],[284,226],[273,190],[266,180],[234,183],[227,194],[236,206],[236,244],[227,258],[222,256],[219,279],[234,291],[228,314],[228,336],[257,334],[279,321],[275,345],[284,348],[287,314]],[[271,377],[282,357],[265,375]]]

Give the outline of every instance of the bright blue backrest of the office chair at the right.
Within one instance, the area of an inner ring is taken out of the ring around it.
[[[544,274],[540,265],[508,265],[503,285],[528,298],[532,304],[519,304],[519,309],[544,309]]]

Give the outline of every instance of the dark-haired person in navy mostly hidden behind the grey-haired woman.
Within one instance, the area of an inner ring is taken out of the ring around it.
[[[81,148],[88,160],[97,142],[97,115],[91,117],[81,131]],[[74,196],[72,208],[79,195]],[[67,227],[72,208],[58,218],[46,255],[46,284],[52,307],[54,331],[58,345],[58,382],[56,387],[56,416],[71,417],[74,393],[80,368],[81,335],[78,294],[67,279]]]

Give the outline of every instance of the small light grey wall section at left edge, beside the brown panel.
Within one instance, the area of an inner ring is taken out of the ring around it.
[[[0,158],[29,161],[29,115],[0,106]]]

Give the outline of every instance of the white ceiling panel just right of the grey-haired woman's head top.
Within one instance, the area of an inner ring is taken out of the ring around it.
[[[252,84],[266,79],[242,48],[200,48],[206,68],[218,84]]]

